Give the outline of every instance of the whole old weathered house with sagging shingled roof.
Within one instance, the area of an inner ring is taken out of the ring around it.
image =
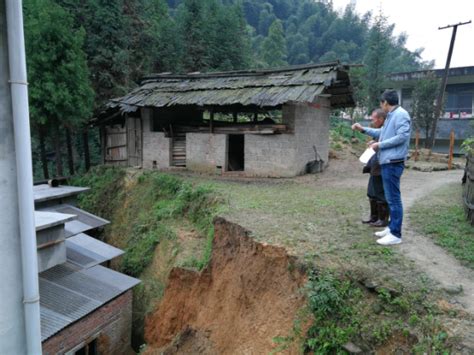
[[[97,119],[106,164],[291,177],[328,162],[329,115],[354,104],[348,67],[144,78]]]

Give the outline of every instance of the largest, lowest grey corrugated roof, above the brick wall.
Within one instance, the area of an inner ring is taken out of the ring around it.
[[[139,282],[100,265],[80,269],[66,263],[41,273],[41,340],[45,341]]]

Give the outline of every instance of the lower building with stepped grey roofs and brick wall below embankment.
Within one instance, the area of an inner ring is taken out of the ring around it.
[[[75,206],[87,188],[34,187],[43,354],[129,354],[139,280],[107,268],[123,251],[85,232],[108,221]]]

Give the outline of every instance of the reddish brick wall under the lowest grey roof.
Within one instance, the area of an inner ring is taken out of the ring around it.
[[[64,354],[97,338],[99,354],[130,354],[132,291],[113,299],[43,343],[43,354]]]

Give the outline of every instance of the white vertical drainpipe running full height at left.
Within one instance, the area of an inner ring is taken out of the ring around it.
[[[37,355],[41,354],[41,321],[22,1],[6,0],[6,10],[23,267],[26,350],[28,354]]]

